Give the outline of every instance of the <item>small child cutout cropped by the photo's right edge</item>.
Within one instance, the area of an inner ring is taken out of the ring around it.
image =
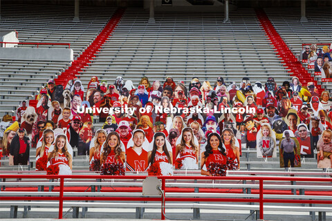
[[[317,166],[318,168],[331,168],[332,165],[332,131],[325,130],[322,133],[322,138],[317,143],[319,152],[317,153]],[[324,158],[329,158],[331,164],[323,162]]]

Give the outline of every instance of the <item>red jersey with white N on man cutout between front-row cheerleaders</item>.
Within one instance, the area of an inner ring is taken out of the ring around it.
[[[127,149],[127,171],[147,171],[147,151],[142,149],[138,155],[132,147]]]

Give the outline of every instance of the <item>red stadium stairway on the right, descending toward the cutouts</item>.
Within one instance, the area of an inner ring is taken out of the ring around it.
[[[297,60],[290,48],[288,48],[285,41],[280,37],[277,30],[273,27],[273,24],[268,19],[268,16],[264,10],[256,10],[257,17],[261,22],[262,28],[266,32],[268,39],[271,41],[271,44],[274,46],[277,51],[277,56],[282,59],[284,66],[290,68],[288,72],[291,73],[291,76],[298,77],[303,85],[306,85],[308,82],[315,82],[315,86],[318,88],[320,93],[322,93],[322,88],[317,84],[317,81],[311,77],[311,74],[302,66],[301,62]]]

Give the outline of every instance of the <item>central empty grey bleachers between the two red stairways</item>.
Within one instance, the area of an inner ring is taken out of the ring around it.
[[[80,73],[87,85],[92,76],[113,83],[122,76],[138,84],[142,76],[150,81],[174,77],[188,84],[192,77],[227,83],[250,77],[265,82],[275,77],[278,84],[289,80],[272,46],[259,26],[255,10],[232,13],[232,23],[223,23],[223,13],[158,12],[156,23],[149,14],[127,9],[116,31]]]

